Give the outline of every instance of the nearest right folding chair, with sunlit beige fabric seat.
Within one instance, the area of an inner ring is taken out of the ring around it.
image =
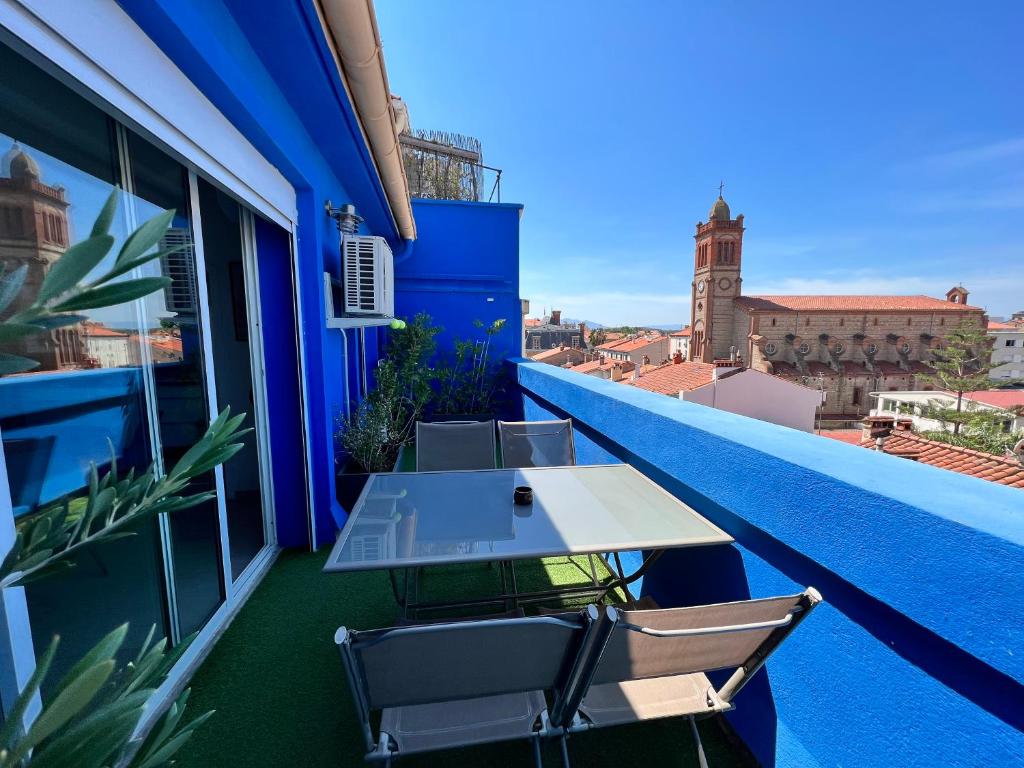
[[[733,699],[765,659],[821,602],[808,588],[799,595],[657,610],[605,606],[591,646],[565,694],[551,711],[552,725],[568,732],[643,720],[686,717],[707,768],[695,718],[733,708]],[[718,689],[707,673],[734,669]],[[568,753],[562,739],[563,759]]]

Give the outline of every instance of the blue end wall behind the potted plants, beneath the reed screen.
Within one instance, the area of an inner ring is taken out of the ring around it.
[[[482,339],[474,321],[505,319],[492,338],[490,359],[500,364],[522,345],[519,305],[521,205],[415,200],[420,237],[408,259],[395,264],[395,314],[427,312],[443,331],[442,354],[455,340]]]

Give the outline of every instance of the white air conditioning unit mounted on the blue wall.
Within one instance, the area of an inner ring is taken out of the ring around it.
[[[394,315],[394,263],[383,238],[341,238],[342,292],[348,314]]]

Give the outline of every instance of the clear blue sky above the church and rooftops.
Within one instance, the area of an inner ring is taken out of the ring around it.
[[[1024,3],[378,0],[413,126],[468,133],[525,205],[521,295],[689,319],[724,179],[743,292],[1024,309]]]

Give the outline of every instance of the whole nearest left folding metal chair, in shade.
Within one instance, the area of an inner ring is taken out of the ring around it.
[[[348,684],[367,760],[513,739],[540,740],[549,727],[546,690],[560,691],[600,613],[452,620],[369,632],[340,628]],[[380,711],[374,733],[371,713]]]

